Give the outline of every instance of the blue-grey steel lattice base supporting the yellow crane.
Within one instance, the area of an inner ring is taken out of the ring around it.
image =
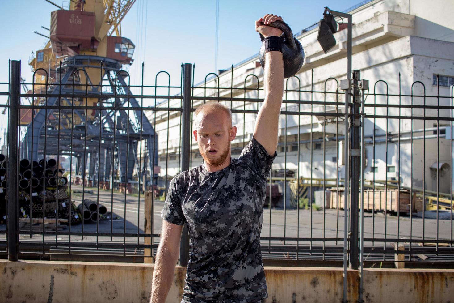
[[[153,149],[157,145],[157,134],[148,119],[141,118],[140,110],[128,109],[140,105],[126,83],[127,73],[120,69],[117,60],[99,56],[77,55],[63,60],[57,68],[59,79],[55,84],[45,86],[45,94],[39,94],[42,102],[35,105],[37,113],[27,127],[20,158],[39,160],[45,155],[64,154],[77,157],[79,164],[83,164],[81,159],[89,153],[87,178],[97,183],[98,176],[100,181],[109,180],[113,164],[109,159],[118,157],[119,168],[114,170],[118,175],[112,177],[128,183],[133,178],[134,168],[140,166],[136,151],[138,141],[145,140],[146,150],[153,154],[154,163],[158,163],[158,149]],[[100,80],[91,79],[90,75]],[[86,82],[81,83],[80,79],[86,79]],[[105,80],[109,85],[103,85]],[[101,91],[103,88],[110,89],[111,93]],[[34,90],[35,84],[33,93]],[[97,99],[102,109],[90,106],[88,99]],[[102,158],[104,154],[105,160]],[[145,159],[148,163],[143,166],[153,172],[153,158],[146,155]],[[98,166],[102,171],[98,171]]]

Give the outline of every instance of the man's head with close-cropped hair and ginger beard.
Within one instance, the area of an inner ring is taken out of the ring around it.
[[[193,134],[207,164],[222,166],[230,160],[230,142],[237,134],[237,128],[231,125],[228,115],[222,110],[208,109],[197,114]]]

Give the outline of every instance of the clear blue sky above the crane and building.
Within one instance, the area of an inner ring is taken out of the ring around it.
[[[360,2],[220,0],[217,67],[227,69],[258,52],[254,21],[266,13],[281,15],[296,33],[320,20],[324,6],[343,11]],[[8,78],[8,59],[22,60],[22,77],[31,82],[29,56],[46,42],[33,31],[48,34],[41,25],[49,27],[50,12],[56,9],[44,0],[0,0],[0,82]],[[203,80],[215,67],[215,25],[216,0],[137,0],[122,22],[122,35],[136,45],[131,84],[140,84],[142,61],[145,84],[154,84],[156,73],[166,70],[172,84],[179,85],[181,63],[195,63],[195,82]]]

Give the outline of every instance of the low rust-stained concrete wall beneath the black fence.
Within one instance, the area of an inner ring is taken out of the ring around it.
[[[0,302],[148,303],[154,264],[0,261]],[[266,303],[341,302],[341,268],[265,267]],[[365,302],[450,302],[454,270],[367,269]],[[168,303],[181,300],[185,268],[177,267]],[[359,275],[348,273],[348,300]],[[49,300],[49,295],[52,296]]]

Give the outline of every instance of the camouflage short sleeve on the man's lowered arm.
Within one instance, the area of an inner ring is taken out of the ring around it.
[[[167,222],[183,225],[185,222],[183,210],[181,208],[181,187],[178,186],[178,176],[170,181],[166,201],[161,212],[161,218]]]

